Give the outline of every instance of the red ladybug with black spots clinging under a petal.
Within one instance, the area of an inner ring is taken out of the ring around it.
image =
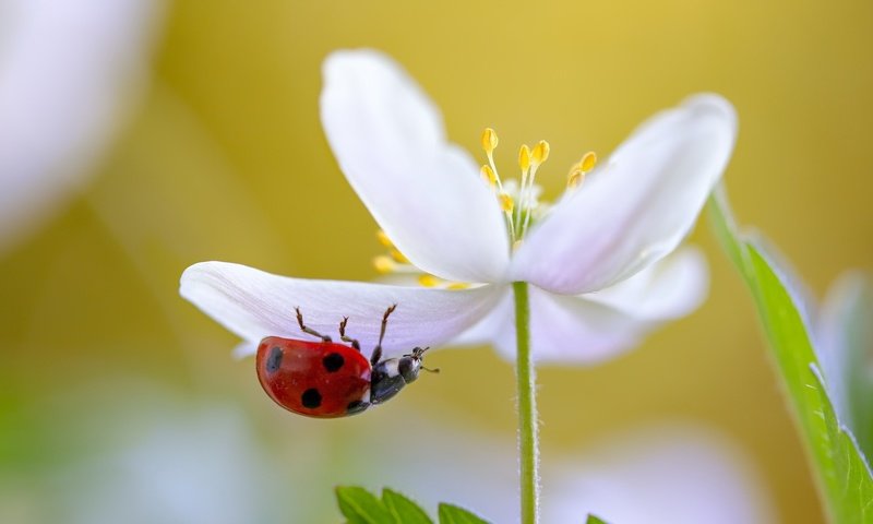
[[[346,346],[308,327],[300,308],[295,308],[300,330],[321,341],[279,336],[262,340],[255,358],[258,380],[276,404],[308,417],[345,417],[382,404],[414,382],[419,370],[439,372],[421,366],[427,347],[382,360],[382,338],[396,307],[391,306],[382,317],[379,344],[370,360],[361,354],[360,343],[346,336],[348,317],[339,322],[339,337],[350,344]]]

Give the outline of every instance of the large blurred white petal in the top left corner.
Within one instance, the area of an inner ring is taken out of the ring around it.
[[[0,251],[93,174],[144,86],[162,3],[0,1]]]

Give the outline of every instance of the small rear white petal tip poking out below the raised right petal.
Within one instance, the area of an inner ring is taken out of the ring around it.
[[[684,317],[703,303],[709,289],[709,271],[703,252],[684,247],[626,281],[585,295],[639,320]]]

